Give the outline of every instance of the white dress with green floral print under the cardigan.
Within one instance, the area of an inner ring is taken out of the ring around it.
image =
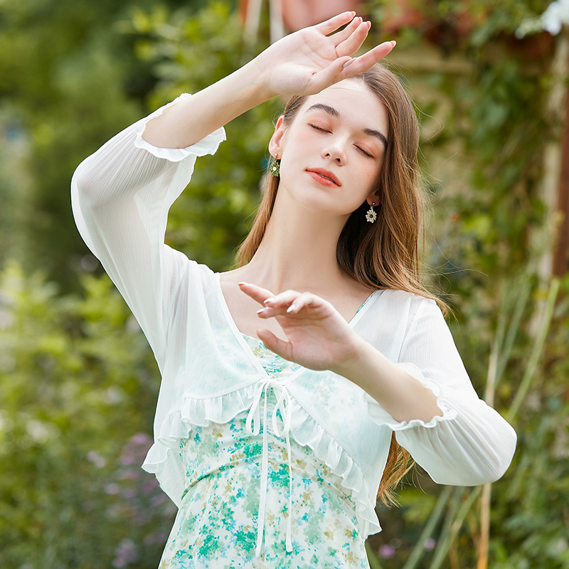
[[[282,381],[299,368],[258,339],[243,336],[270,378]],[[276,403],[268,389],[266,419]],[[340,477],[310,447],[291,440],[289,478],[285,441],[272,432],[270,420],[251,435],[245,428],[248,413],[223,425],[194,426],[181,440],[186,489],[159,569],[368,569],[355,505]],[[257,556],[265,426],[267,487]],[[292,548],[287,548],[287,529]]]

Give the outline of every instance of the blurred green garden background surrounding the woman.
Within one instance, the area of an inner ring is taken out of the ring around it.
[[[0,567],[155,569],[175,507],[139,468],[159,373],[80,239],[88,154],[270,41],[356,8],[396,39],[432,204],[426,278],[479,395],[514,424],[503,479],[419,470],[380,509],[372,569],[569,568],[569,2],[0,1]],[[167,241],[230,267],[282,102],[228,125]]]

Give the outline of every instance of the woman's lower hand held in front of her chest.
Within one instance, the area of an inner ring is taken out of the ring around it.
[[[257,330],[263,344],[283,358],[314,370],[335,371],[358,357],[363,340],[326,300],[311,292],[269,290],[240,282],[240,289],[262,308],[260,318],[275,318],[287,341],[267,329]]]

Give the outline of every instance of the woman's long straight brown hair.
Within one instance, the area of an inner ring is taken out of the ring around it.
[[[336,260],[346,274],[365,287],[420,294],[435,299],[445,311],[445,304],[430,294],[420,279],[418,243],[424,201],[418,168],[419,124],[413,103],[398,78],[381,63],[350,80],[362,81],[384,105],[389,135],[377,181],[377,220],[366,221],[369,207],[366,202],[353,211],[340,234]],[[292,123],[304,100],[306,97],[299,95],[289,100],[282,115],[285,127]],[[259,248],[275,206],[278,186],[277,177],[266,176],[257,216],[235,257],[238,266],[248,263]],[[398,445],[394,433],[378,491],[378,498],[384,504],[395,503],[393,489],[411,465],[410,454]]]

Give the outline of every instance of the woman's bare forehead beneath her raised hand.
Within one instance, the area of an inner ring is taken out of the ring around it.
[[[339,112],[340,119],[353,121],[358,127],[379,129],[388,134],[385,106],[363,81],[340,81],[316,95],[309,95],[302,103],[299,114],[307,112],[317,103],[333,107]]]

